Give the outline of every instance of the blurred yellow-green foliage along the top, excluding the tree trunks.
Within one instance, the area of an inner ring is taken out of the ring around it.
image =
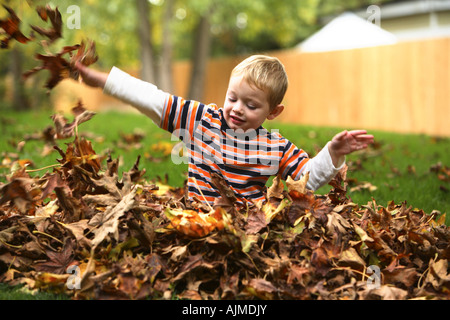
[[[175,1],[170,21],[174,45],[174,57],[188,59],[192,53],[193,30],[199,17],[210,13],[211,32],[214,38],[213,53],[216,56],[242,52],[269,51],[289,48],[308,37],[320,27],[320,17],[348,9],[363,8],[370,4],[382,4],[392,0],[227,0],[226,5],[217,0]],[[73,45],[90,38],[96,41],[101,57],[101,67],[118,65],[126,68],[139,66],[139,41],[135,1],[71,0],[33,1],[33,6],[49,3],[62,14],[65,23],[61,45]],[[158,50],[163,41],[161,26],[165,1],[150,1],[153,42]],[[22,29],[29,34],[30,24],[39,24],[39,18],[27,1],[9,3],[22,19]],[[73,13],[70,6],[80,8],[80,26],[67,25]],[[0,12],[0,17],[5,13]],[[17,45],[28,57],[36,52],[32,46]],[[0,57],[7,53],[0,51]],[[31,60],[31,59],[30,59]],[[7,59],[1,59],[2,65]],[[27,62],[32,64],[33,61]]]

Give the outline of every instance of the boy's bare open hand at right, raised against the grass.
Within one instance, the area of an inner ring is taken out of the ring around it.
[[[338,166],[345,155],[365,149],[373,141],[373,135],[367,134],[365,130],[343,131],[338,133],[329,144],[333,164]]]

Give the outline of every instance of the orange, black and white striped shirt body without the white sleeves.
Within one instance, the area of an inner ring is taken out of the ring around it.
[[[186,145],[189,154],[189,197],[213,203],[220,195],[211,173],[223,177],[238,201],[263,200],[269,177],[299,178],[309,157],[278,132],[263,127],[237,133],[216,105],[169,96],[160,127]]]

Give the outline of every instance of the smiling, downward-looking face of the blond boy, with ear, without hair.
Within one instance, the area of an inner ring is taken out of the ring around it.
[[[224,104],[224,116],[228,126],[244,132],[258,129],[266,119],[272,120],[283,110],[278,105],[271,110],[267,93],[243,80],[232,76]]]

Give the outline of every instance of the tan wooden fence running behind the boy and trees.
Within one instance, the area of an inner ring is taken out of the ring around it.
[[[450,38],[268,54],[283,62],[290,82],[280,121],[450,136]],[[209,61],[202,102],[223,104],[230,72],[242,58]],[[186,96],[189,70],[188,62],[175,64],[174,94]],[[112,102],[98,91],[77,90],[71,91],[97,106]]]

